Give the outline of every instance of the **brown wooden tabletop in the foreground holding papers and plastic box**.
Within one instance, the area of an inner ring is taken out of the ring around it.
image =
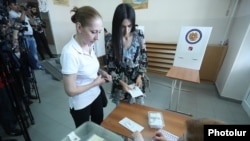
[[[177,136],[182,136],[186,130],[185,121],[189,119],[189,116],[182,115],[179,113],[160,110],[153,107],[148,107],[139,104],[129,104],[126,102],[121,102],[102,122],[101,126],[118,133],[122,136],[131,138],[132,132],[120,125],[118,122],[124,117],[137,122],[142,125],[144,129],[142,130],[142,135],[145,141],[152,141],[152,136],[158,129],[153,129],[149,127],[148,124],[148,111],[158,111],[163,114],[165,127],[164,130],[169,131]]]

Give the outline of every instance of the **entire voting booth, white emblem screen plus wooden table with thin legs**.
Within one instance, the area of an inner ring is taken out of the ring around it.
[[[184,26],[181,28],[174,63],[166,75],[167,77],[173,78],[169,109],[172,105],[172,98],[177,81],[179,81],[179,87],[175,111],[180,113],[183,113],[178,110],[182,81],[200,83],[199,70],[211,31],[212,27]],[[190,113],[183,114],[191,115]]]

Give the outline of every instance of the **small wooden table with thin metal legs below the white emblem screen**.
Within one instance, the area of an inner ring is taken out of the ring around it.
[[[173,78],[172,81],[172,91],[171,91],[171,98],[169,102],[169,109],[171,109],[171,104],[172,104],[172,97],[174,94],[174,89],[176,86],[177,81],[179,80],[179,88],[178,88],[178,101],[176,104],[175,110],[178,112],[178,105],[179,105],[179,100],[180,100],[180,91],[181,91],[181,84],[182,81],[189,81],[189,82],[194,82],[194,83],[200,83],[200,74],[199,70],[194,70],[194,69],[189,69],[189,68],[182,68],[182,67],[177,67],[177,66],[172,66],[167,75],[167,77]],[[189,114],[190,115],[190,114]]]

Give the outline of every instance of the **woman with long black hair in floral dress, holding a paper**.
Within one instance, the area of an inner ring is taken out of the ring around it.
[[[135,11],[131,5],[117,6],[112,22],[112,38],[106,44],[107,69],[113,77],[111,98],[144,104],[144,96],[132,98],[130,84],[138,86],[145,94],[144,75],[147,70],[147,52],[143,32],[136,29]]]

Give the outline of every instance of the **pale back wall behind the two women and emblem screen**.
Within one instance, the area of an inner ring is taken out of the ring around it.
[[[122,0],[69,0],[69,6],[59,6],[48,0],[57,54],[75,32],[70,20],[73,6],[93,6],[111,31],[113,13],[120,3]],[[220,44],[231,8],[231,0],[149,0],[147,9],[136,10],[136,19],[145,27],[147,42],[177,43],[181,26],[212,26],[209,44]]]

